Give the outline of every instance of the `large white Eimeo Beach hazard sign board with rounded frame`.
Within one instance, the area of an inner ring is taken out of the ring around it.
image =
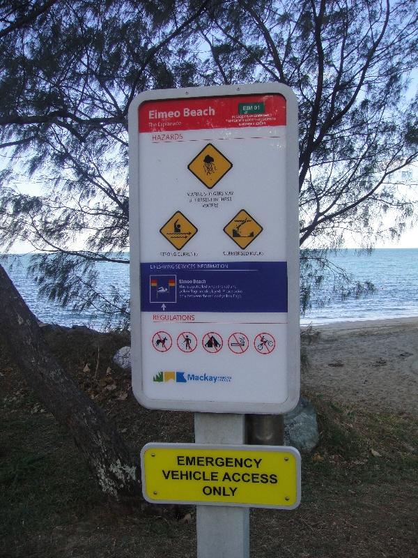
[[[129,125],[134,394],[157,409],[288,412],[300,382],[294,94],[147,91]]]

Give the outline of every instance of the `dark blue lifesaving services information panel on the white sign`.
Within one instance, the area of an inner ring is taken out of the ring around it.
[[[286,262],[141,264],[141,310],[287,312]]]

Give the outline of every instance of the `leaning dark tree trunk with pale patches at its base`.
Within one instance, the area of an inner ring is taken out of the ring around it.
[[[139,465],[106,415],[63,370],[45,342],[36,318],[0,266],[0,334],[42,405],[65,425],[113,502],[139,504]]]

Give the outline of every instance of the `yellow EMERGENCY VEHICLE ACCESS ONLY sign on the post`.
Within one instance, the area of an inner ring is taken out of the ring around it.
[[[144,498],[155,504],[300,504],[300,454],[286,446],[147,444],[141,470]]]

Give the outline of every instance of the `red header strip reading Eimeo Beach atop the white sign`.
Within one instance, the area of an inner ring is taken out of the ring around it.
[[[148,100],[139,105],[139,132],[286,126],[286,99],[278,93]]]

